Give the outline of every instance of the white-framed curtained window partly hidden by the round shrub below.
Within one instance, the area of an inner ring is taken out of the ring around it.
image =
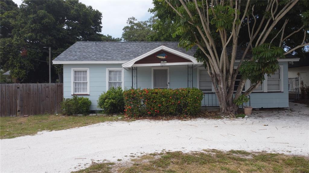
[[[124,71],[122,68],[107,68],[107,90],[114,87],[124,89]]]

